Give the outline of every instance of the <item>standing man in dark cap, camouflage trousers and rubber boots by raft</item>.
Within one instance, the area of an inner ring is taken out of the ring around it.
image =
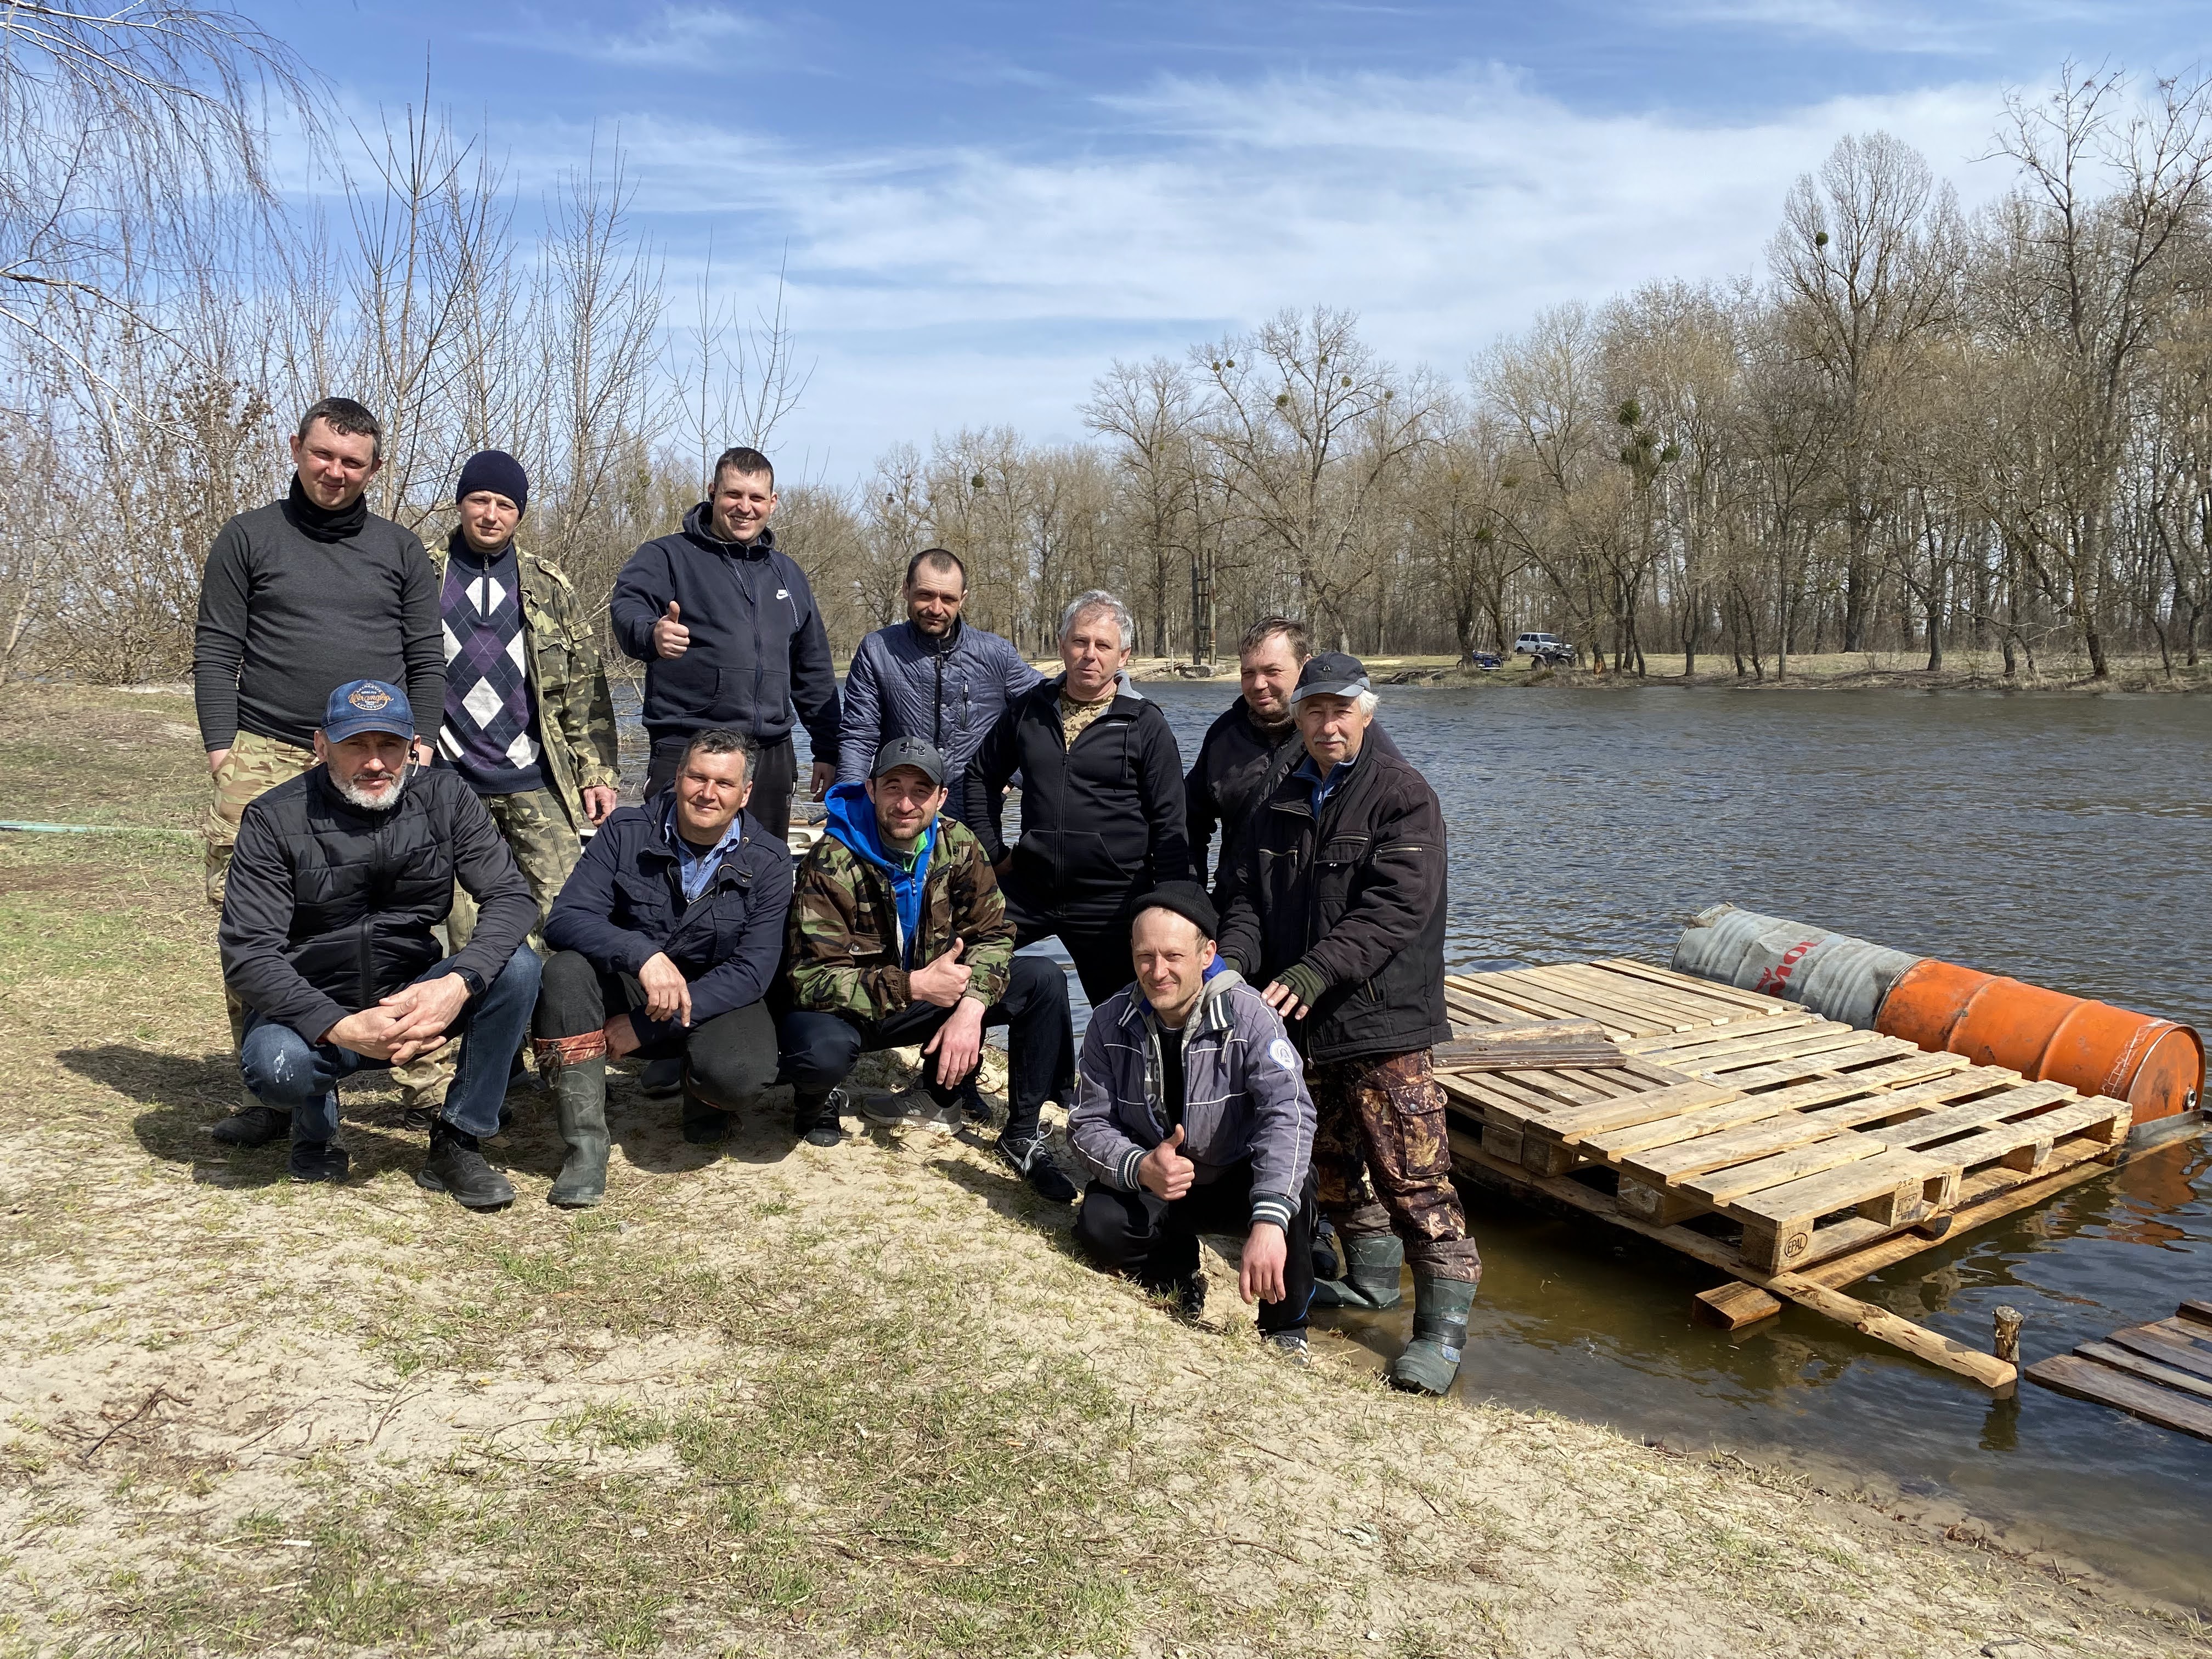
[[[1356,657],[1298,670],[1305,759],[1245,825],[1221,956],[1294,1022],[1312,1068],[1314,1177],[1345,1248],[1345,1276],[1318,1301],[1394,1307],[1411,1259],[1413,1340],[1389,1376],[1442,1394],[1482,1276],[1429,1068],[1451,1037],[1444,812],[1420,772],[1367,741],[1374,710]]]

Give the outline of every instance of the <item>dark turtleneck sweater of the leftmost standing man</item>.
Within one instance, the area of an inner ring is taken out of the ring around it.
[[[307,748],[349,679],[400,686],[422,737],[436,737],[438,575],[414,531],[363,502],[325,513],[294,478],[285,500],[239,513],[208,551],[192,637],[199,739],[223,750],[246,730]]]

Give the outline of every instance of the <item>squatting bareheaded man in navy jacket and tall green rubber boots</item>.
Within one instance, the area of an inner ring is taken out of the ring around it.
[[[697,1144],[776,1082],[768,989],[792,854],[745,812],[754,757],[743,732],[692,732],[675,785],[615,812],[553,900],[533,1046],[568,1144],[557,1206],[606,1192],[608,1060],[675,1062]]]

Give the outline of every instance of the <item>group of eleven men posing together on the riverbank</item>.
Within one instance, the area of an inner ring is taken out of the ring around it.
[[[582,1208],[606,1192],[608,1062],[666,1079],[699,1144],[790,1084],[792,1133],[830,1148],[852,1113],[987,1124],[978,1066],[1004,1026],[998,1155],[1079,1197],[1102,1265],[1194,1316],[1199,1234],[1243,1230],[1239,1290],[1301,1356],[1312,1305],[1394,1307],[1411,1265],[1391,1378],[1451,1385],[1480,1259],[1429,1073],[1442,812],[1356,659],[1256,624],[1186,776],[1126,675],[1119,599],[1066,606],[1044,679],[964,622],[967,568],[929,549],[907,622],[860,644],[841,692],[770,526],[774,471],[730,449],[615,582],[653,745],[641,805],[619,807],[595,633],[515,540],[526,471],[473,456],[431,555],[367,511],[378,442],[358,403],[316,403],[290,495],[208,557],[208,891],[250,1093],[219,1139],[288,1135],[296,1179],[343,1179],[338,1082],[394,1068],[431,1117],[416,1179],[498,1208],[513,1183],[482,1141],[526,1046],[566,1146],[549,1199]],[[825,807],[796,872],[794,712]],[[1024,951],[1046,938],[1093,1006],[1079,1055],[1066,975]],[[858,1057],[898,1046],[922,1051],[920,1084],[856,1104]]]

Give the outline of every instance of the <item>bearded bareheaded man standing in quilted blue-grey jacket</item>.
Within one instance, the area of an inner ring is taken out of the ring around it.
[[[838,783],[863,781],[885,743],[918,737],[945,757],[945,816],[958,818],[967,763],[1006,703],[1040,675],[995,633],[960,619],[967,566],[958,553],[916,553],[905,595],[907,619],[876,628],[852,653]]]

